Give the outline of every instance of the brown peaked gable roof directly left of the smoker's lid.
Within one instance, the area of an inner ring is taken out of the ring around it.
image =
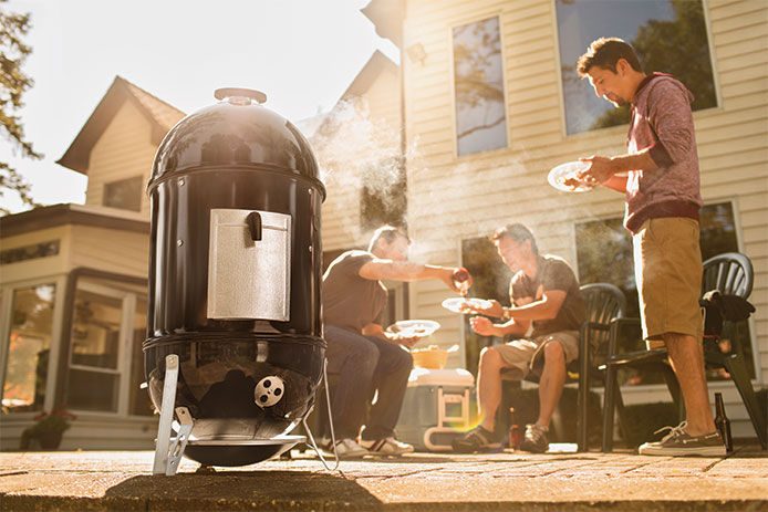
[[[91,150],[124,102],[133,102],[152,125],[152,140],[159,145],[165,134],[185,116],[184,112],[153,96],[127,80],[115,76],[106,94],[56,164],[87,174]]]

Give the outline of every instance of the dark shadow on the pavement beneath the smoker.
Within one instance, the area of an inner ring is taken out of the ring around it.
[[[137,476],[110,488],[105,498],[152,502],[153,510],[218,510],[217,500],[227,509],[301,503],[323,510],[332,504],[377,505],[381,501],[354,480],[339,473],[301,471],[224,471],[178,473],[174,477]],[[204,504],[205,503],[205,504]]]

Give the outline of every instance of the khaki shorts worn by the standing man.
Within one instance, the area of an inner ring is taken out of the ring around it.
[[[679,333],[700,338],[698,222],[684,217],[650,219],[632,243],[643,337]]]

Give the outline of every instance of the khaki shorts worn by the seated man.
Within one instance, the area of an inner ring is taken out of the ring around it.
[[[505,372],[505,379],[522,380],[528,374],[541,375],[544,366],[543,348],[548,343],[557,342],[565,353],[565,365],[579,357],[579,333],[577,331],[562,331],[547,334],[536,338],[520,338],[504,345],[494,345],[505,363],[511,366],[513,372]]]

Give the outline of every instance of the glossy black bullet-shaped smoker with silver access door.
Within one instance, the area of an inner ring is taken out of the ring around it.
[[[242,466],[281,448],[249,440],[286,435],[314,403],[325,189],[309,143],[259,105],[263,93],[216,98],[155,156],[145,369],[159,409],[165,357],[177,354],[175,407],[194,419],[185,454]]]

